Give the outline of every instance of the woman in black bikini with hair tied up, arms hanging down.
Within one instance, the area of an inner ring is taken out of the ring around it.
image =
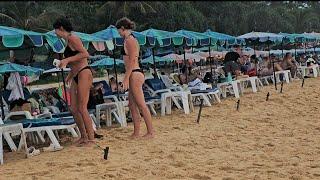
[[[142,85],[144,83],[144,74],[139,67],[139,44],[135,37],[131,34],[135,24],[128,18],[119,19],[116,23],[116,28],[119,34],[124,38],[123,44],[123,60],[125,63],[125,77],[123,80],[123,90],[129,88],[129,109],[133,119],[134,131],[131,138],[139,137],[140,133],[140,113],[147,126],[147,133],[144,138],[152,138],[154,130],[151,122],[151,114],[145,103]]]

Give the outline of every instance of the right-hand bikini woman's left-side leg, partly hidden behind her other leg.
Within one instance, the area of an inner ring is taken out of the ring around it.
[[[131,138],[136,138],[139,137],[139,133],[140,133],[140,113],[137,107],[137,104],[134,100],[133,94],[132,94],[132,83],[130,84],[130,88],[129,88],[129,109],[131,112],[131,117],[132,117],[132,121],[133,121],[133,134],[131,135]]]

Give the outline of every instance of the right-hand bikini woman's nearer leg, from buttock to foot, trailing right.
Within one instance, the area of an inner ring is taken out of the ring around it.
[[[142,113],[143,119],[147,126],[147,134],[144,137],[153,137],[154,130],[152,127],[151,113],[146,105],[142,85],[144,83],[144,75],[142,73],[133,72],[130,76],[130,91],[132,92],[135,103]]]

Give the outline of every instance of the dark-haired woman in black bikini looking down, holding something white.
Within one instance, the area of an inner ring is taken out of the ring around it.
[[[88,51],[83,47],[79,37],[71,33],[73,31],[70,21],[59,18],[53,24],[55,33],[63,38],[66,43],[64,59],[60,62],[60,68],[70,66],[71,71],[66,78],[71,83],[71,108],[76,124],[80,130],[81,138],[78,145],[90,145],[94,143],[94,130],[87,109],[90,87],[92,85],[92,72],[88,66]]]

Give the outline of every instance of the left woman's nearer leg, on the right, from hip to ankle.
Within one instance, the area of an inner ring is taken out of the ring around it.
[[[89,93],[92,85],[92,73],[89,69],[85,69],[81,71],[79,74],[79,84],[78,84],[78,111],[81,114],[84,127],[86,129],[88,140],[94,140],[94,131],[92,127],[92,121],[90,119],[90,115],[88,112],[88,101],[89,101]]]

